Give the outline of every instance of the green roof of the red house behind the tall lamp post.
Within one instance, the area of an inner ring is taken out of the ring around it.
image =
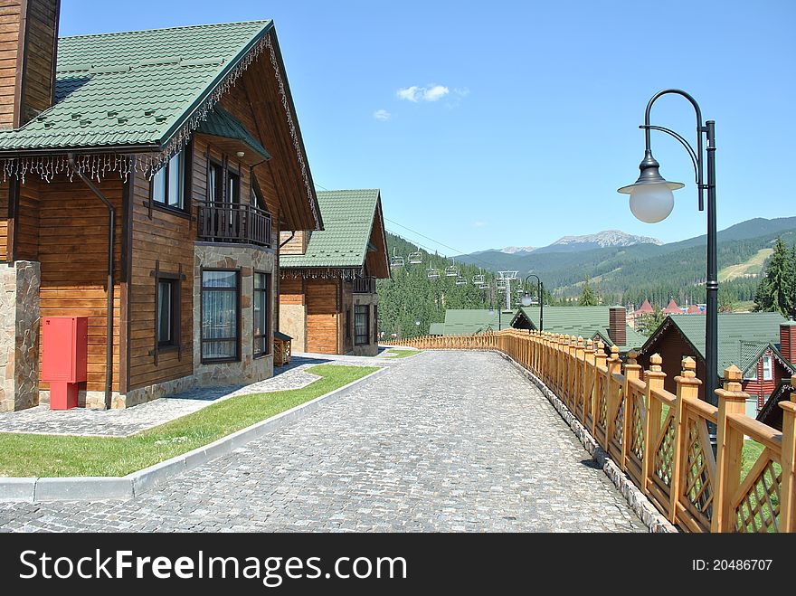
[[[668,317],[682,332],[683,336],[705,357],[705,322],[704,315],[674,315]],[[664,321],[662,325],[668,323]],[[718,370],[716,374],[724,376],[730,364],[739,368],[750,364],[750,352],[755,345],[779,344],[780,324],[785,318],[779,313],[720,313],[718,315]],[[656,332],[657,333],[657,332]],[[653,333],[652,337],[656,336]],[[750,349],[751,348],[751,349]],[[744,363],[745,361],[745,363]]]

